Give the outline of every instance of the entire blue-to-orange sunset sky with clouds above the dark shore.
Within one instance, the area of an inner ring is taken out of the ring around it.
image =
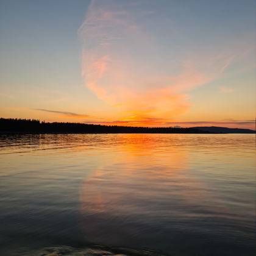
[[[0,0],[0,117],[255,130],[255,5]]]

